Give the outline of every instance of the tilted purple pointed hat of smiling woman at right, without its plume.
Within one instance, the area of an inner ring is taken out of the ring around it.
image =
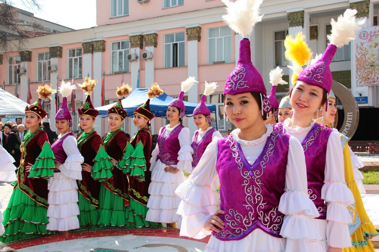
[[[318,61],[302,70],[298,77],[298,81],[303,81],[307,84],[321,87],[326,91],[326,93],[329,93],[330,89],[332,89],[333,83],[332,72],[330,72],[329,65],[330,62],[332,62],[336,51],[337,47],[335,45],[328,45],[325,53]]]

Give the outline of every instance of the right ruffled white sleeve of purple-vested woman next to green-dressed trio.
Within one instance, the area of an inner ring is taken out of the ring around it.
[[[180,150],[178,152],[178,165],[177,169],[183,170],[186,172],[192,171],[192,154],[193,149],[191,147],[191,142],[189,142],[189,129],[183,128],[178,135]]]

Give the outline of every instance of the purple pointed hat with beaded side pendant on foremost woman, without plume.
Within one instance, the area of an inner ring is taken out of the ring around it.
[[[241,39],[238,63],[233,72],[226,79],[224,95],[238,95],[240,93],[262,94],[262,109],[268,113],[271,109],[267,98],[265,82],[251,62],[251,51],[249,39]]]

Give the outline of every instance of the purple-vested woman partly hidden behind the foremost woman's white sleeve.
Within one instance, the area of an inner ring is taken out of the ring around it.
[[[209,84],[205,81],[204,95],[201,96],[200,103],[193,110],[193,122],[198,128],[192,138],[191,147],[193,149],[192,154],[192,169],[196,167],[199,163],[200,158],[203,156],[205,149],[216,138],[222,138],[219,131],[213,129],[210,125],[212,123],[211,112],[205,105],[205,100],[207,96],[215,92],[217,82],[210,82]],[[213,191],[213,213],[219,209],[220,205],[220,194],[218,192],[220,188],[220,181],[218,177],[212,183],[211,190]]]

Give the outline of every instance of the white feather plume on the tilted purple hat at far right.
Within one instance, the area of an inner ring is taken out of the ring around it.
[[[342,47],[349,44],[350,40],[356,39],[358,31],[362,28],[366,19],[357,21],[355,14],[357,14],[356,9],[346,9],[345,13],[340,15],[337,21],[334,19],[330,21],[332,34],[327,36],[330,44]]]

